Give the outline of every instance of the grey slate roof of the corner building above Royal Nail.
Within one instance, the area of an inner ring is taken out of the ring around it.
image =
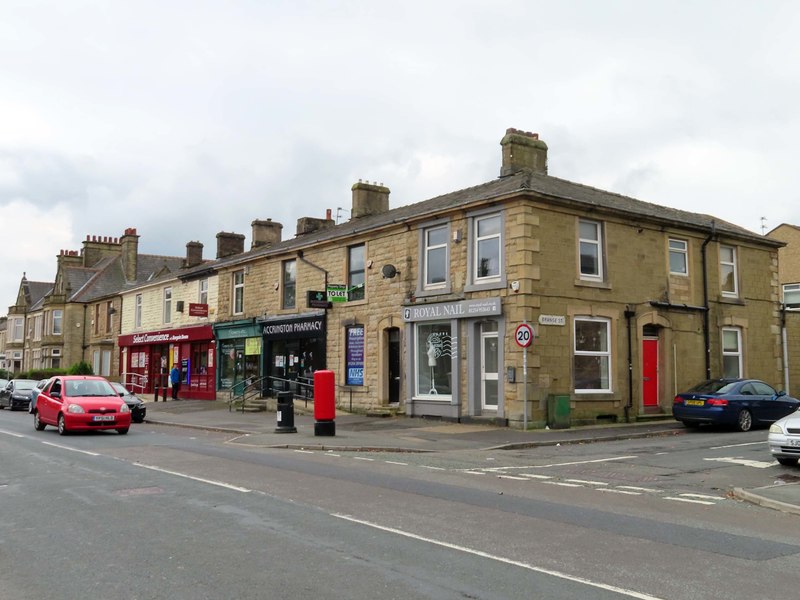
[[[254,248],[242,254],[209,261],[190,269],[183,269],[178,275],[186,279],[200,277],[205,273],[213,272],[217,268],[233,266],[261,256],[290,252],[306,248],[312,244],[346,238],[396,223],[430,219],[449,210],[462,209],[519,195],[527,195],[531,199],[545,203],[549,202],[558,206],[571,206],[578,210],[614,213],[633,221],[659,223],[680,229],[690,229],[704,235],[711,233],[713,227],[717,234],[723,234],[731,239],[776,248],[784,245],[782,242],[766,238],[749,229],[711,215],[670,208],[637,200],[629,196],[606,192],[566,179],[523,170],[473,187],[436,196],[414,204],[400,206],[378,215],[351,219],[328,229],[283,240],[272,246]]]

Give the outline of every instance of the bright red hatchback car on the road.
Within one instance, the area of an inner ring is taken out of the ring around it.
[[[53,377],[39,394],[33,425],[37,431],[53,425],[61,435],[96,429],[125,434],[131,426],[131,411],[104,378],[63,375]]]

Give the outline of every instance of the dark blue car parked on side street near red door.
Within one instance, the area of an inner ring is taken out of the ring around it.
[[[750,431],[800,408],[800,400],[758,379],[710,379],[678,394],[672,415],[686,427],[725,425]]]

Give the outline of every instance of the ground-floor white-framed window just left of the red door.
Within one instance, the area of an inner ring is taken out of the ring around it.
[[[576,393],[611,391],[611,321],[575,317],[573,377]]]

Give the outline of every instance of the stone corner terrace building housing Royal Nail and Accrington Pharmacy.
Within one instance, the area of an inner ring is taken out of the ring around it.
[[[780,382],[782,243],[552,177],[536,134],[501,148],[496,180],[395,209],[359,182],[349,222],[301,219],[216,261],[215,330],[260,335],[273,390],[325,368],[345,407],[517,427],[556,407],[572,423],[669,413],[708,377]]]

